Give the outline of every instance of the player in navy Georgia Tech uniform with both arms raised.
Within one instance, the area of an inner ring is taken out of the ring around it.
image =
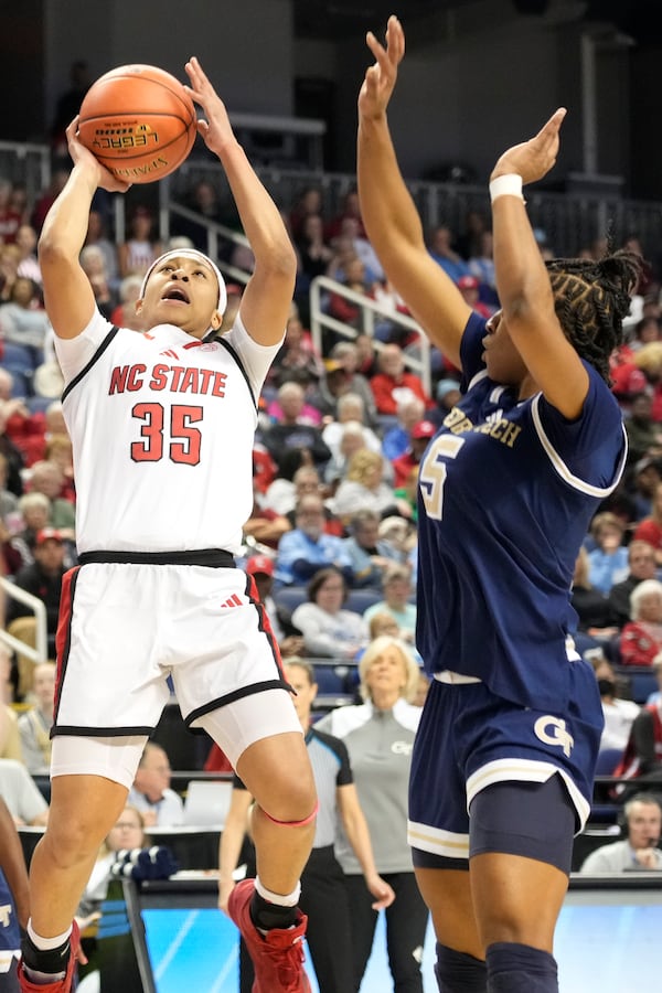
[[[392,17],[359,96],[371,243],[462,396],[420,462],[417,647],[434,676],[417,734],[409,841],[444,993],[552,993],[573,835],[602,717],[574,651],[577,551],[626,460],[609,356],[640,259],[545,266],[522,184],[554,166],[565,110],[491,177],[501,310],[485,321],[429,256],[386,107],[405,41]]]

